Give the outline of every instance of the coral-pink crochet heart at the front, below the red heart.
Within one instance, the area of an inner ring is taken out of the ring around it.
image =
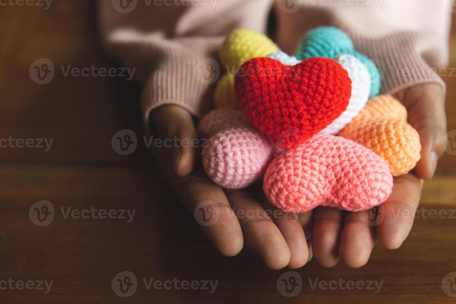
[[[279,154],[263,183],[271,203],[295,213],[320,205],[367,210],[384,203],[392,187],[393,177],[381,157],[332,135],[317,135]]]

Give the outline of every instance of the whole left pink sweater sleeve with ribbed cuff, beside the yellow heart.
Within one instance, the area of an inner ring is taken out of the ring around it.
[[[105,45],[136,67],[144,86],[146,121],[163,104],[197,117],[209,111],[215,79],[204,76],[223,37],[237,27],[264,32],[271,7],[268,0],[99,0]]]

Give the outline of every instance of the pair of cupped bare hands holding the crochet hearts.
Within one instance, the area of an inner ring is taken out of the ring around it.
[[[377,238],[389,249],[399,248],[407,238],[423,180],[434,175],[444,151],[440,145],[446,133],[444,89],[424,84],[395,97],[406,106],[409,123],[420,134],[421,159],[413,172],[394,179],[393,193],[375,209],[374,221],[373,211],[352,213],[324,207],[299,215],[282,213],[268,202],[260,187],[223,191],[215,185],[196,165],[199,148],[155,149],[154,154],[190,212],[203,206],[218,214],[216,223],[200,226],[222,254],[238,254],[245,242],[272,269],[300,268],[312,256],[325,267],[342,259],[358,268],[367,263]],[[152,119],[162,138],[197,138],[192,116],[180,106],[161,106],[153,111]]]

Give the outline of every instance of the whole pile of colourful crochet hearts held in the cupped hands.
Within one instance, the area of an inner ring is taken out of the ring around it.
[[[218,81],[218,109],[198,126],[209,138],[203,167],[218,185],[263,178],[267,198],[283,211],[361,211],[383,203],[393,175],[419,160],[420,138],[404,107],[375,97],[378,69],[343,31],[311,30],[289,56],[260,33],[234,30],[220,56],[235,69]]]

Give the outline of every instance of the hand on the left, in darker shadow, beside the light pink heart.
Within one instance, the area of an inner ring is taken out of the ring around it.
[[[211,213],[216,220],[197,219],[208,240],[223,255],[233,256],[246,247],[272,269],[304,266],[312,256],[304,230],[310,230],[311,213],[301,216],[282,213],[270,205],[261,187],[227,190],[215,185],[199,162],[198,145],[183,145],[197,139],[192,115],[176,105],[164,105],[152,112],[155,136],[164,141],[178,138],[181,144],[153,148],[157,164],[175,188],[183,205],[192,213]],[[204,139],[199,139],[204,143]],[[256,185],[258,186],[258,185]]]

